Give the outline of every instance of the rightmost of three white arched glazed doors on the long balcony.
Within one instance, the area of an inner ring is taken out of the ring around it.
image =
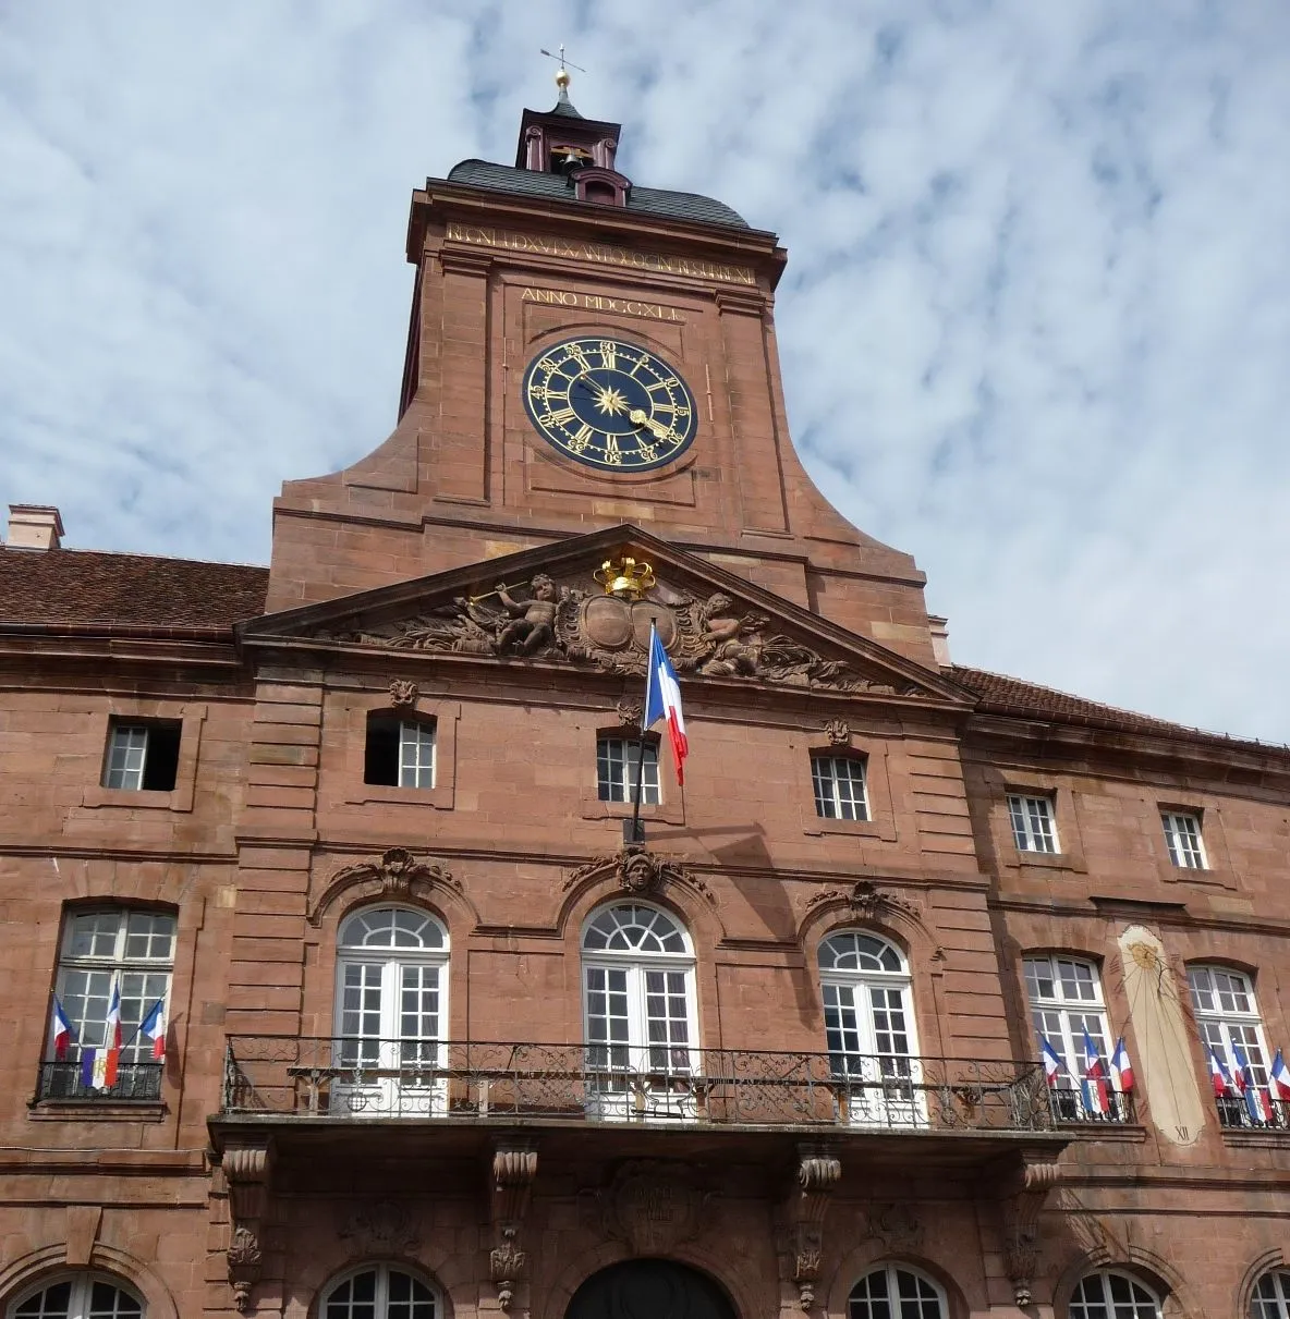
[[[847,1080],[849,1120],[926,1121],[905,955],[875,934],[839,930],[819,946],[819,987],[830,1068]]]

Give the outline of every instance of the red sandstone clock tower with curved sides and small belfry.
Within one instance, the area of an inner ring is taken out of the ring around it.
[[[794,452],[776,236],[634,183],[620,125],[557,82],[513,165],[462,161],[413,194],[398,423],[352,467],[286,483],[269,611],[629,524],[934,666],[913,559],[851,526]]]

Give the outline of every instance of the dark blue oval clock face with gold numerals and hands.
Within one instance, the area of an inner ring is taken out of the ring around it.
[[[524,406],[562,454],[611,472],[670,463],[698,425],[681,376],[621,339],[566,339],[538,353],[524,373]]]

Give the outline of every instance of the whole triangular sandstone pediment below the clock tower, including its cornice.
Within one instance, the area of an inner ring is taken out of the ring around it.
[[[603,566],[624,558],[649,570],[634,599],[605,591]],[[942,674],[627,525],[266,615],[239,637],[628,675],[645,671],[652,621],[682,681],[973,703]]]

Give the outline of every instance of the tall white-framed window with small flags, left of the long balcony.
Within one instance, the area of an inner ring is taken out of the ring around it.
[[[55,1057],[53,1028],[41,1064],[37,1099],[161,1097],[161,1062],[140,1024],[160,1002],[169,1020],[175,921],[169,913],[108,909],[67,918],[54,992],[70,1026],[65,1057]],[[106,1054],[113,993],[120,997],[121,1047],[116,1082],[103,1087],[94,1055]],[[50,1013],[53,1020],[53,1013]]]

